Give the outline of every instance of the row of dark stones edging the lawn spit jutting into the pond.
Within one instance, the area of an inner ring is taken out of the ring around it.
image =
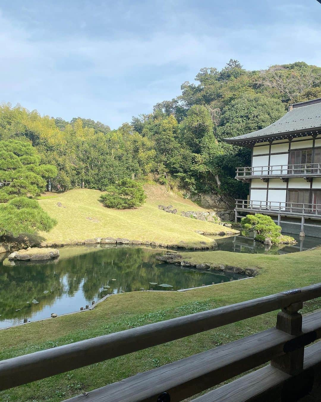
[[[197,269],[214,269],[216,271],[226,271],[226,272],[235,272],[238,274],[244,274],[247,276],[255,277],[258,275],[257,267],[233,267],[232,265],[227,264],[197,264],[192,261],[187,261],[183,259],[183,256],[176,252],[168,252],[165,255],[156,256],[156,260],[162,261],[168,264],[176,264],[181,265],[182,267],[195,267]]]

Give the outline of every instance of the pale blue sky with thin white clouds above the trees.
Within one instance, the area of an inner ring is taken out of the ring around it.
[[[203,67],[321,66],[316,0],[0,2],[0,103],[112,129]]]

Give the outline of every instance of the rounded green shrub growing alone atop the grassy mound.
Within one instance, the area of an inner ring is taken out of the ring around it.
[[[105,207],[116,209],[139,207],[145,200],[142,185],[129,178],[124,178],[116,185],[108,187],[106,193],[100,197]]]

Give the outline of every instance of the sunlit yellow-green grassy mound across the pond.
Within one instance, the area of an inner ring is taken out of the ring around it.
[[[65,193],[45,196],[40,204],[58,224],[49,233],[39,235],[47,242],[66,242],[95,237],[123,237],[130,240],[148,240],[165,244],[179,244],[184,241],[189,246],[199,246],[200,242],[211,243],[209,238],[195,233],[226,232],[231,230],[210,222],[188,219],[180,216],[180,211],[201,210],[192,201],[167,192],[163,187],[147,185],[147,201],[137,209],[116,210],[104,207],[99,201],[98,190],[71,190]],[[60,201],[66,208],[57,207]],[[173,205],[177,215],[158,209],[157,205]],[[95,223],[86,217],[98,219]]]

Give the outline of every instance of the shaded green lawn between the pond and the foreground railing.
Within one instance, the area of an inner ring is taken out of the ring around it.
[[[260,275],[188,292],[131,292],[109,297],[91,312],[61,316],[0,331],[0,359],[76,342],[93,336],[192,314],[321,282],[321,248],[284,255],[186,252],[198,263],[256,266]],[[317,299],[303,312],[321,308]],[[118,357],[0,393],[1,401],[61,401],[275,325],[276,313]]]

